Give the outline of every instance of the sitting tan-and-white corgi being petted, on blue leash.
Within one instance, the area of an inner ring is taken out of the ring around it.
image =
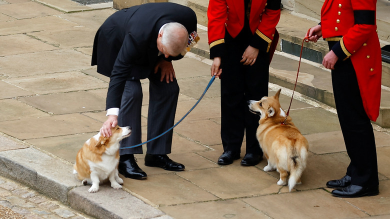
[[[111,127],[111,136],[100,132],[84,142],[77,152],[73,173],[84,185],[91,184],[89,192],[99,190],[99,183],[108,178],[111,187],[122,188],[123,180],[118,176],[119,141],[131,134],[129,127]]]

